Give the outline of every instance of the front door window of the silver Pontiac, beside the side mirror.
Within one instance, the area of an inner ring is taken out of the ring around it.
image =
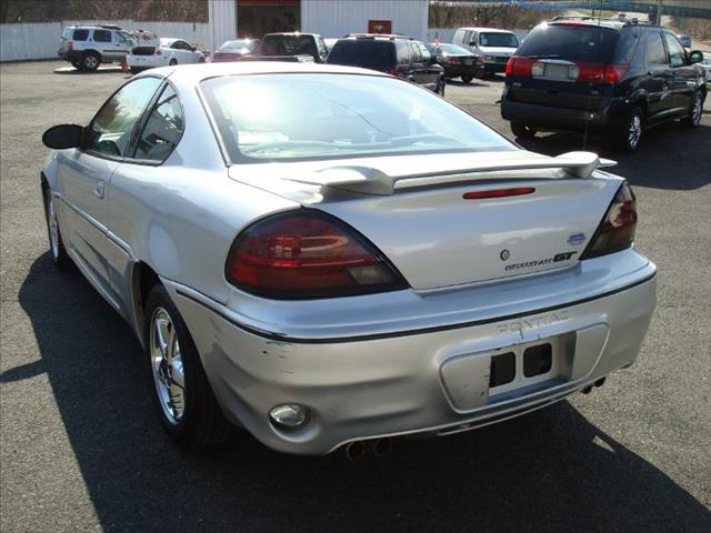
[[[141,78],[113,94],[89,124],[88,149],[116,158],[126,157],[136,123],[160,83],[158,78]]]

